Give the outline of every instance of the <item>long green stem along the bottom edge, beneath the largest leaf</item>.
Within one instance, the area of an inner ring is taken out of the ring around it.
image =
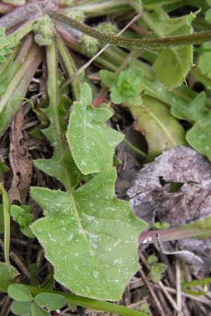
[[[92,298],[85,298],[82,296],[76,296],[70,293],[63,293],[58,291],[51,291],[49,289],[41,289],[39,287],[32,287],[30,285],[24,286],[30,291],[32,296],[36,296],[39,293],[53,293],[60,294],[64,296],[69,304],[82,306],[84,308],[89,308],[92,310],[103,310],[105,312],[111,312],[116,315],[121,316],[148,316],[143,312],[139,312],[138,310],[132,310],[131,308],[127,308],[122,305],[117,305],[114,303],[108,303],[103,301],[94,300]],[[0,284],[0,291],[7,292],[7,287],[4,287],[4,284]]]

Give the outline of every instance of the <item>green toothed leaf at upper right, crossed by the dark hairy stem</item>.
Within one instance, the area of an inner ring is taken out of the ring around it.
[[[164,11],[144,13],[143,20],[158,37],[177,36],[191,34],[191,20],[196,15],[190,13],[179,18],[169,18]],[[193,47],[181,46],[162,49],[157,60],[153,64],[156,77],[169,88],[179,86],[184,81],[188,71],[193,65]]]

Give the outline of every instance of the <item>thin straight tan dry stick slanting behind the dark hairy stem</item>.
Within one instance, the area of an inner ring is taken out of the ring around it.
[[[121,31],[117,34],[117,36],[121,35],[126,29],[128,29],[128,27],[130,27],[130,25],[132,25],[136,20],[138,20],[141,17],[141,13],[137,14],[131,21],[129,21],[129,23],[127,25],[125,25],[125,27],[123,29],[121,29]],[[84,64],[82,67],[79,68],[79,70],[77,70],[77,72],[75,72],[75,74],[68,78],[65,83],[63,84],[63,86],[61,86],[61,90],[63,88],[65,88],[65,86],[68,86],[68,84],[70,84],[70,82],[72,82],[72,80],[74,80],[76,77],[79,76],[79,74],[81,74],[82,72],[84,72],[84,70],[87,69],[87,67],[89,67],[89,65],[91,65],[92,62],[94,62],[94,60],[96,60],[96,58],[98,58],[99,55],[101,55],[101,53],[103,53],[103,51],[106,51],[106,48],[108,48],[110,46],[110,44],[106,44],[106,46],[104,46],[103,48],[101,48],[100,51],[98,51],[98,53],[96,53],[96,55],[94,55],[89,62],[86,62],[86,64]]]

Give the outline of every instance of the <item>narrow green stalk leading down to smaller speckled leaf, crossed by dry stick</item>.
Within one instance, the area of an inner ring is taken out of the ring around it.
[[[56,37],[56,42],[57,42],[58,51],[65,65],[65,70],[66,72],[68,72],[68,77],[72,77],[77,71],[75,62],[72,60],[72,57],[68,49],[66,48],[65,44],[63,43],[63,40],[60,38],[60,36]],[[72,80],[72,88],[73,88],[75,99],[78,100],[79,93],[80,93],[79,78]]]

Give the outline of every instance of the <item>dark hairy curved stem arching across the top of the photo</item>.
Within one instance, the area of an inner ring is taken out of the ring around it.
[[[113,35],[108,35],[105,33],[99,32],[97,29],[89,27],[84,23],[77,22],[72,18],[69,18],[66,15],[56,13],[54,11],[50,11],[49,14],[52,18],[57,20],[58,22],[62,22],[65,25],[69,25],[74,27],[75,29],[79,29],[79,31],[88,34],[91,37],[99,39],[106,44],[113,44],[116,46],[124,47],[124,48],[135,48],[135,49],[155,49],[155,48],[167,48],[171,46],[183,46],[183,45],[191,45],[191,44],[200,44],[205,41],[211,40],[211,31],[194,33],[194,34],[186,34],[181,36],[174,37],[162,37],[162,38],[154,38],[154,39],[124,39],[123,37],[117,37]]]

